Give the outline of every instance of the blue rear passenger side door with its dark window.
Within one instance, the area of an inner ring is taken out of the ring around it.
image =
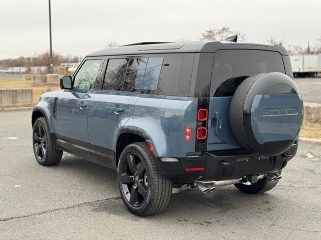
[[[93,161],[113,167],[117,134],[129,119],[140,93],[148,54],[107,56],[103,86],[91,98],[88,134]]]

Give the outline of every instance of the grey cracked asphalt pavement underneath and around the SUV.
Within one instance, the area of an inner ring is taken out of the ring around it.
[[[0,239],[321,239],[321,145],[301,142],[268,193],[192,189],[172,195],[164,212],[137,217],[113,170],[68,154],[37,164],[30,115],[0,111]]]

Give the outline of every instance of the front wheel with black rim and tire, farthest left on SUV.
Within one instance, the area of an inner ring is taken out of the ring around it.
[[[57,150],[50,137],[45,117],[39,117],[33,127],[33,149],[39,164],[48,166],[57,164],[63,151]]]

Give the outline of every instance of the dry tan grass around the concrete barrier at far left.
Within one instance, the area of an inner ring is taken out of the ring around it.
[[[31,88],[33,90],[33,104],[24,106],[34,106],[38,103],[39,97],[42,93],[47,91],[49,88],[59,87],[58,84],[48,84],[46,82],[37,82],[30,80],[15,80],[15,79],[0,79],[0,89],[21,89],[21,88]],[[13,106],[8,106],[13,107]]]

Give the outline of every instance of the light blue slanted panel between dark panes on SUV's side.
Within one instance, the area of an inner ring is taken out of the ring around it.
[[[149,57],[141,89],[156,90],[164,57]]]

